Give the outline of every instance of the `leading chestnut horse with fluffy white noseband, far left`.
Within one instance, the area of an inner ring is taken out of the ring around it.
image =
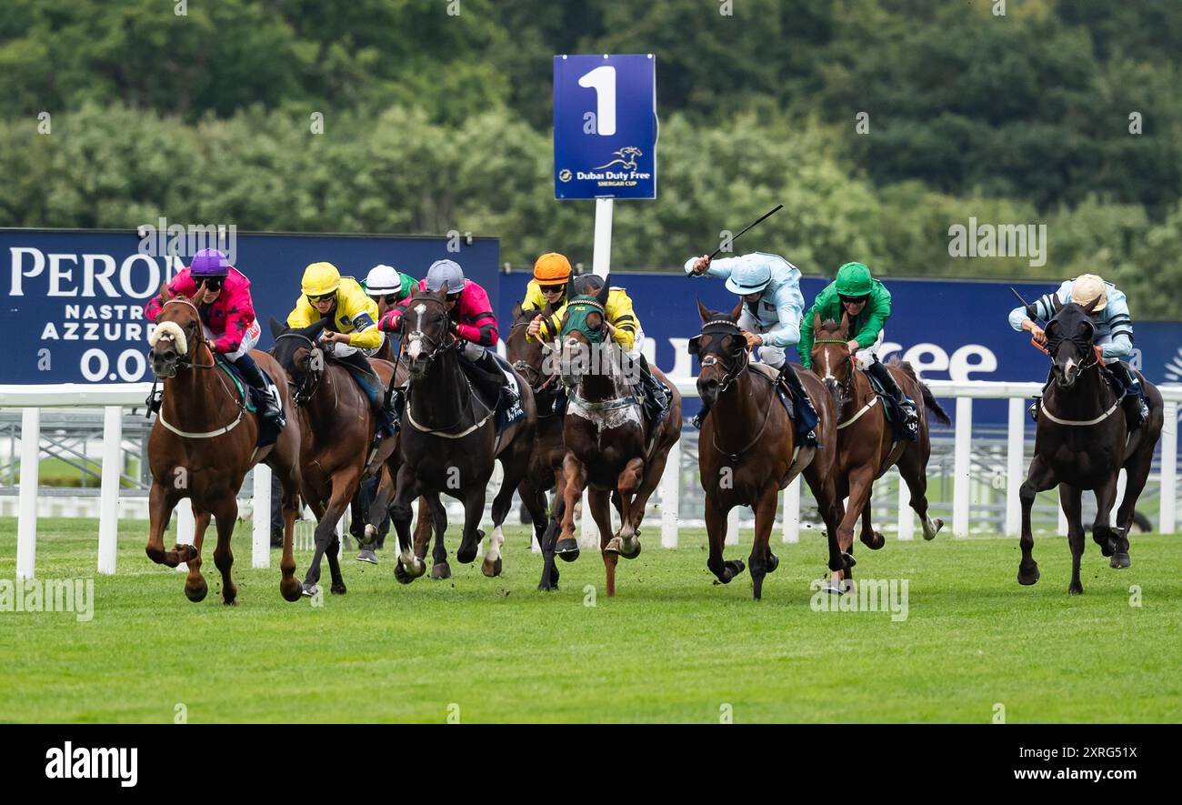
[[[274,444],[256,450],[259,421],[246,410],[241,394],[215,364],[197,309],[184,297],[169,298],[167,287],[161,291],[161,298],[164,306],[150,336],[152,371],[164,379],[164,398],[148,437],[148,465],[152,478],[148,557],[169,567],[186,561],[189,573],[184,579],[184,595],[191,602],[202,600],[209,587],[201,576],[201,546],[209,518],[216,518],[214,564],[222,576],[222,600],[234,604],[238,587],[230,579],[234,554],[229,540],[238,519],[238,492],[247,470],[264,460],[284,487],[279,590],[287,600],[299,600],[292,533],[299,512],[300,435],[286,384],[275,384],[287,413],[286,424]],[[272,379],[282,379],[282,370],[269,355],[252,350],[251,356]],[[164,530],[182,498],[193,502],[196,519],[193,545],[177,543],[165,551]],[[255,513],[255,517],[265,515]]]

